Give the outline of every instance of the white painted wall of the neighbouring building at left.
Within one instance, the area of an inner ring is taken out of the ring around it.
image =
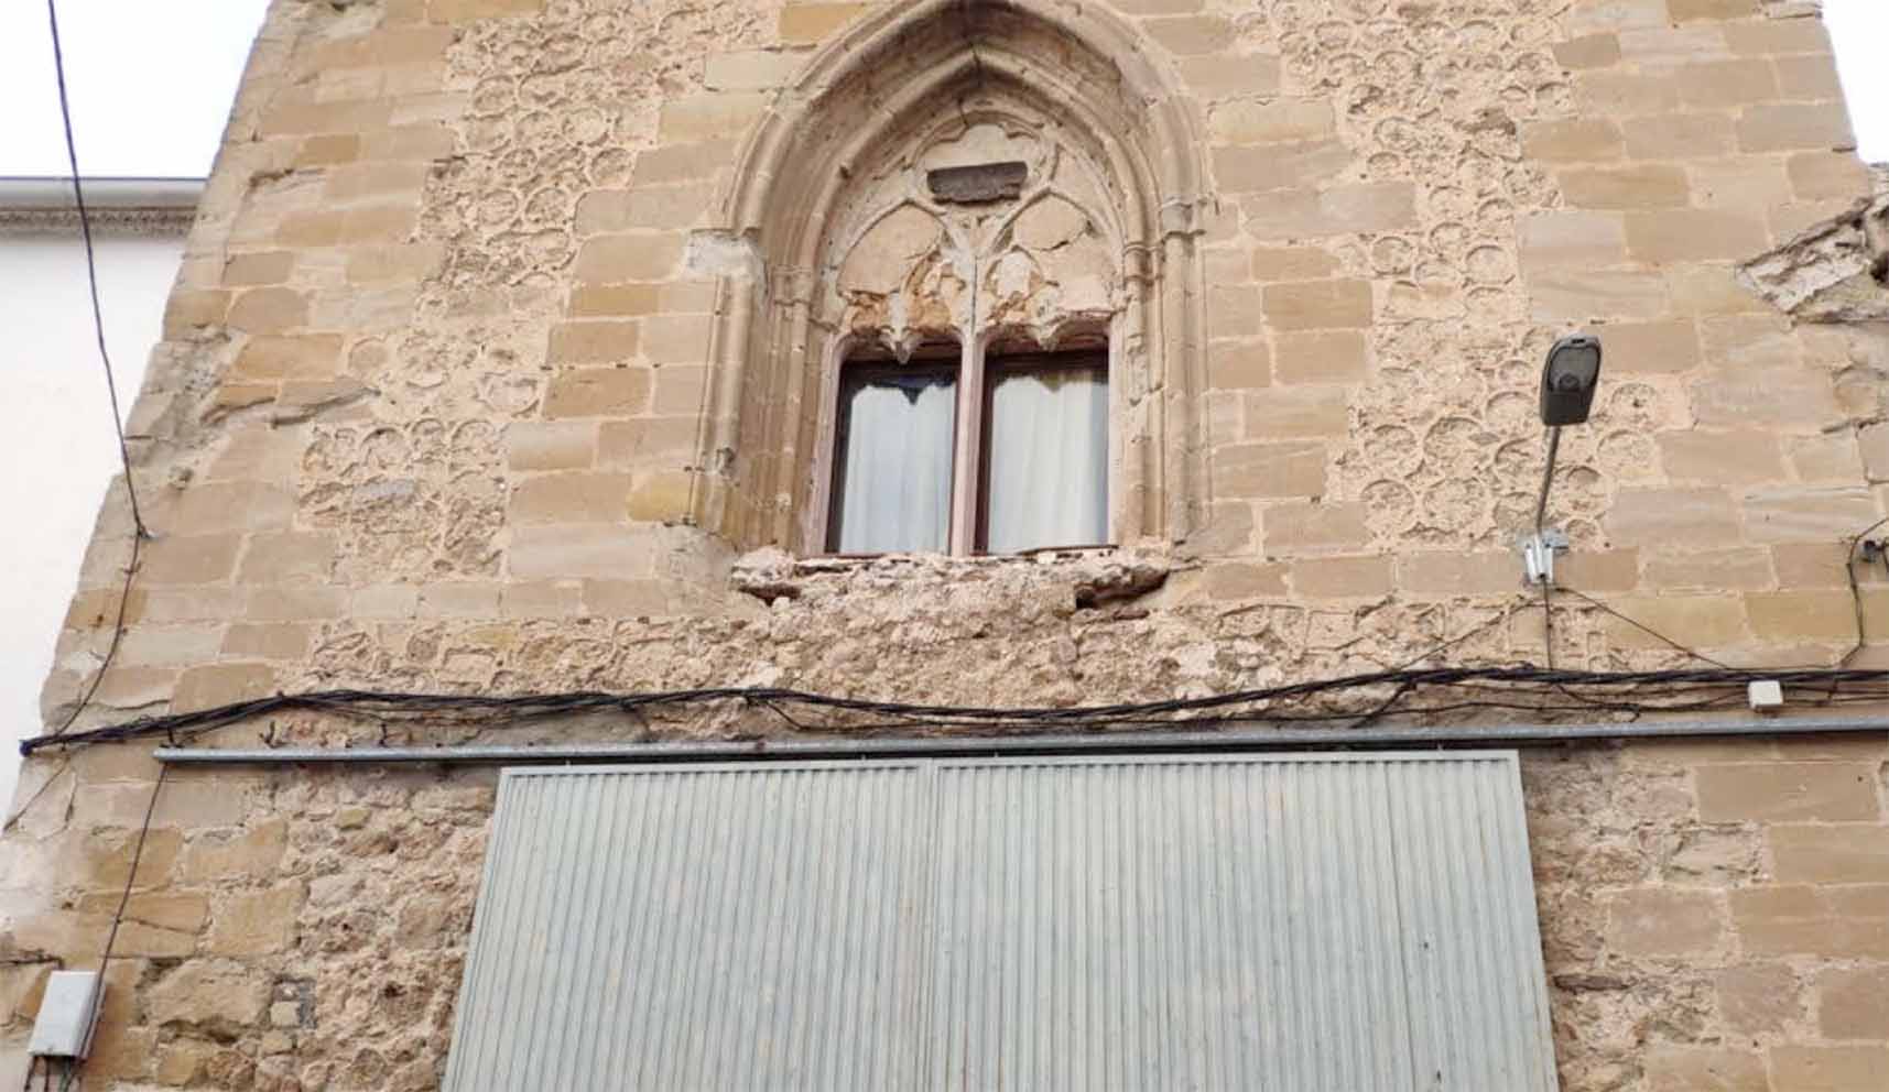
[[[128,414],[164,319],[183,238],[96,238],[106,346]],[[40,735],[40,684],[77,586],[117,436],[77,234],[0,236],[0,801],[15,741]],[[19,803],[6,807],[13,814]]]

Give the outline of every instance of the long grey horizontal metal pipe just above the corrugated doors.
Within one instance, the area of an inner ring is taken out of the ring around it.
[[[1082,735],[939,735],[865,739],[729,739],[684,742],[586,742],[555,746],[162,746],[157,759],[174,765],[527,765],[527,763],[665,763],[808,758],[971,758],[1031,754],[1145,754],[1239,750],[1385,750],[1400,746],[1553,746],[1581,741],[1791,737],[1885,733],[1885,718],[1676,720],[1649,724],[1517,724],[1496,727],[1234,727],[1224,731],[1118,731]]]

